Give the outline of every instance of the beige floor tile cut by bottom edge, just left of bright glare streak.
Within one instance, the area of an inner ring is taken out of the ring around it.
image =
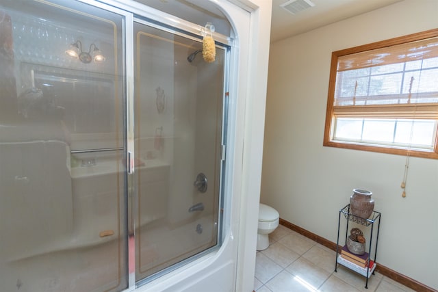
[[[276,275],[272,280],[265,284],[272,292],[309,292],[316,291],[315,287],[312,287],[309,283],[300,280],[296,276],[283,270],[280,274]]]

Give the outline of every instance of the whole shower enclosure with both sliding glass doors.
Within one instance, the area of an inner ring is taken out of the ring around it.
[[[88,1],[90,2],[90,1]],[[123,291],[219,248],[227,37],[0,0],[0,291]]]

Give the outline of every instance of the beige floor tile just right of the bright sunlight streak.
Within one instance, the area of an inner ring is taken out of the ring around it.
[[[292,265],[286,268],[290,274],[296,276],[296,279],[308,283],[311,287],[317,289],[321,284],[327,280],[331,273],[318,267],[314,263],[307,261],[307,259],[300,257],[294,261]]]

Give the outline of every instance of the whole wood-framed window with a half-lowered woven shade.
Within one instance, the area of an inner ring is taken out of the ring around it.
[[[438,29],[332,53],[324,146],[438,159]]]

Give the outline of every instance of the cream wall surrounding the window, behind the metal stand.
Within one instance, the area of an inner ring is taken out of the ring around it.
[[[378,263],[438,289],[438,161],[323,147],[331,52],[438,27],[438,1],[405,0],[270,47],[261,202],[330,241],[352,189],[382,212]],[[334,260],[334,259],[333,259]]]

